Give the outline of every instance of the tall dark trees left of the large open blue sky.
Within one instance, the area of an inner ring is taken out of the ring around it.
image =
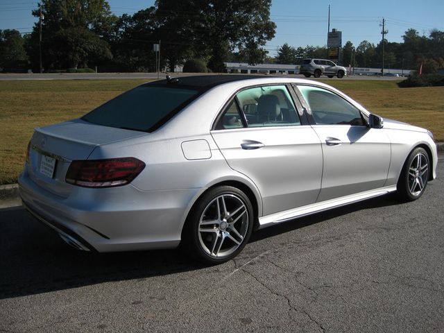
[[[0,67],[28,65],[36,70],[101,67],[107,71],[153,71],[153,44],[161,44],[162,67],[199,58],[212,71],[237,53],[262,62],[264,45],[275,35],[271,0],[157,0],[134,15],[113,15],[105,0],[42,0],[42,17],[23,37],[0,34]],[[42,36],[40,42],[40,35]]]

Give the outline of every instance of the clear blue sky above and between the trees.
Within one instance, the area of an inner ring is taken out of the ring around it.
[[[133,14],[153,6],[154,0],[108,0],[115,15]],[[386,21],[388,42],[402,42],[402,35],[414,28],[420,35],[432,29],[444,31],[443,0],[272,0],[271,21],[277,28],[265,48],[271,56],[284,43],[291,46],[325,46],[327,44],[328,6],[330,30],[342,31],[342,42],[358,46],[363,40],[377,44],[381,40],[382,19]],[[37,1],[0,0],[0,30],[30,32],[37,18],[31,10]]]

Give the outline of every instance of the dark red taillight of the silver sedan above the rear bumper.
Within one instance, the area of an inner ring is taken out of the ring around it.
[[[144,169],[135,157],[72,161],[65,181],[82,187],[114,187],[129,184]]]

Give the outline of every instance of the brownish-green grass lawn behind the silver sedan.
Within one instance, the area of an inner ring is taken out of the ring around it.
[[[370,112],[429,128],[444,141],[444,87],[398,88],[394,80],[321,80]],[[17,182],[33,128],[73,119],[144,80],[0,81],[0,185]]]

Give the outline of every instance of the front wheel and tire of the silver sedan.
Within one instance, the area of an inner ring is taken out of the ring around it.
[[[398,198],[403,201],[413,201],[420,198],[427,187],[429,168],[427,151],[420,147],[414,149],[402,167],[396,192]]]

